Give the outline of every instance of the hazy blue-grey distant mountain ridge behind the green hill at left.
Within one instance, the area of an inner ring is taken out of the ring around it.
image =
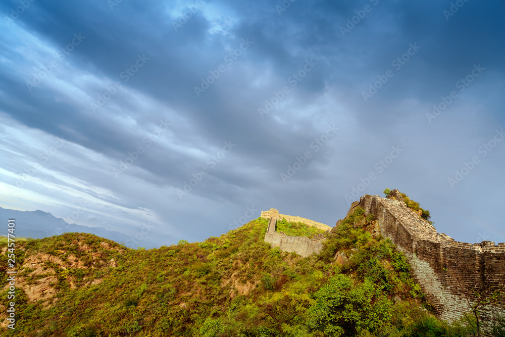
[[[0,207],[0,223],[7,224],[8,219],[16,219],[16,236],[44,238],[65,232],[95,234],[119,244],[128,243],[130,236],[104,227],[89,227],[68,223],[51,213],[44,211],[16,211]],[[0,232],[0,235],[7,235]],[[136,248],[136,247],[135,247]]]

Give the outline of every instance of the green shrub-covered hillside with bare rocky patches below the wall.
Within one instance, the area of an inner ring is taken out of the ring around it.
[[[19,243],[20,311],[16,330],[3,333],[72,337],[472,333],[464,324],[447,325],[431,314],[405,256],[389,239],[367,232],[373,220],[358,207],[328,235],[320,254],[308,258],[266,244],[268,223],[263,218],[203,243],[150,250],[132,250],[80,233]],[[0,248],[5,252],[5,244]],[[52,296],[36,294],[42,281]],[[6,284],[2,270],[2,288]],[[5,290],[0,299],[6,305]]]

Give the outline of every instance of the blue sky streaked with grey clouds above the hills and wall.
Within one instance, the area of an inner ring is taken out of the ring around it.
[[[270,208],[333,226],[398,188],[439,232],[505,242],[504,12],[3,1],[0,206],[159,247]]]

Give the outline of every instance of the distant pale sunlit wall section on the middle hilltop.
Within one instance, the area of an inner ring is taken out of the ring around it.
[[[283,252],[294,252],[303,257],[308,257],[321,250],[323,242],[326,240],[325,233],[314,235],[312,238],[308,238],[307,236],[289,236],[282,231],[275,231],[277,220],[285,218],[287,221],[303,222],[307,225],[318,227],[319,229],[326,231],[331,230],[330,226],[320,222],[297,216],[279,214],[279,211],[274,208],[271,208],[269,211],[261,212],[261,216],[269,218],[267,232],[265,233],[265,242],[271,244],[272,247],[279,247]]]

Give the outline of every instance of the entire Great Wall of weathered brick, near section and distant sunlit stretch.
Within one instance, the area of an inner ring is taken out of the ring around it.
[[[396,189],[387,198],[370,195],[361,197],[360,201],[352,203],[347,215],[358,206],[375,216],[380,233],[390,238],[409,258],[415,280],[440,318],[456,320],[471,310],[468,301],[478,303],[499,287],[505,287],[505,243],[495,245],[492,241],[483,241],[467,244],[438,233],[419,214],[407,207]],[[318,253],[326,240],[325,234],[331,230],[327,226],[325,233],[312,239],[287,236],[275,231],[277,219],[284,217],[288,221],[310,225],[319,223],[280,215],[275,209],[262,212],[262,217],[269,219],[265,242],[304,257]],[[499,304],[505,305],[505,299],[501,299]],[[497,314],[505,314],[503,307],[496,304],[481,306],[479,311],[485,324],[493,321]]]

